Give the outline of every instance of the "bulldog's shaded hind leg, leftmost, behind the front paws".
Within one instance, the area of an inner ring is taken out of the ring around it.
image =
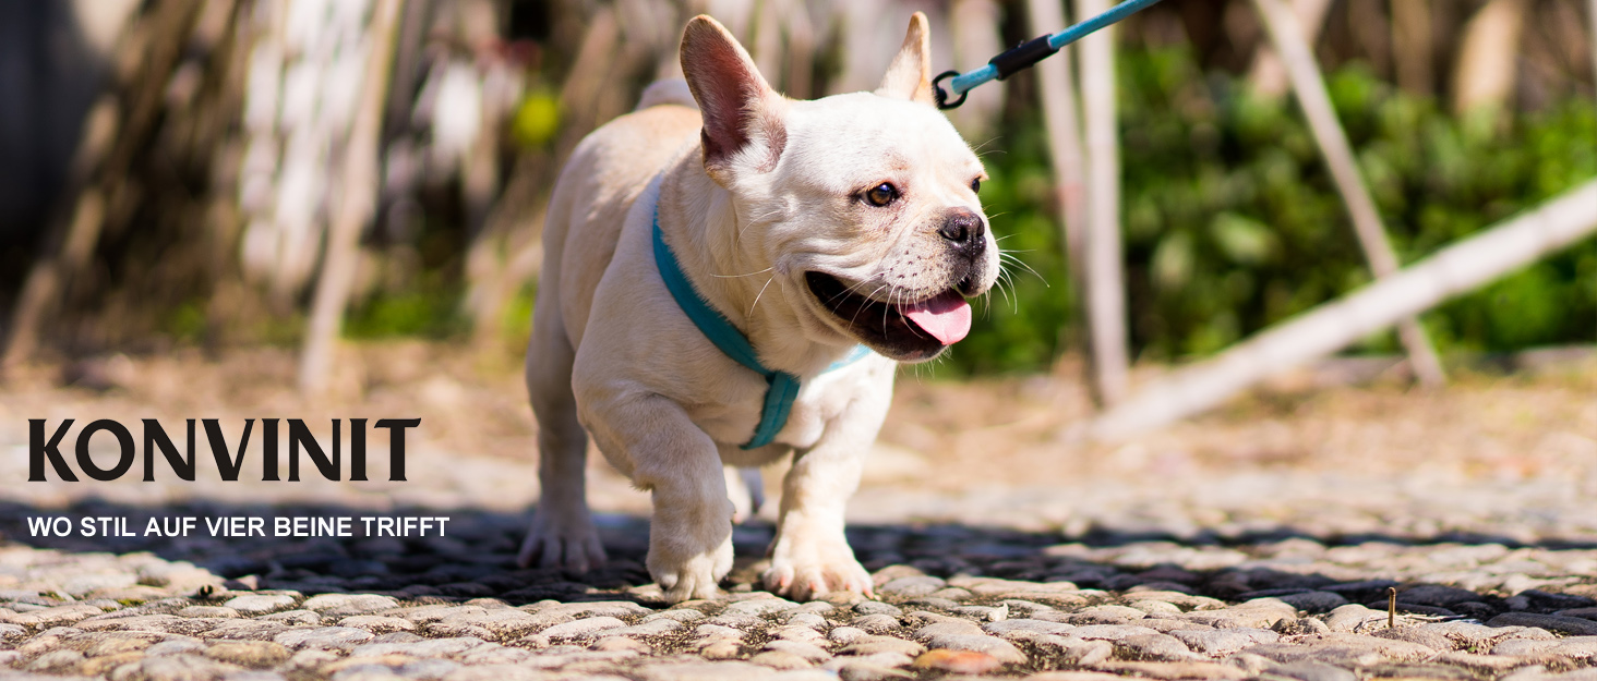
[[[553,289],[553,282],[549,285]],[[604,547],[588,512],[588,434],[577,419],[572,362],[557,295],[540,290],[527,346],[527,392],[538,418],[538,510],[521,545],[525,566],[586,571],[604,563]]]

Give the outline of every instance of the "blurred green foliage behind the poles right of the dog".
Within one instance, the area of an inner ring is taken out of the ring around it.
[[[1341,199],[1290,97],[1199,73],[1182,49],[1121,61],[1131,338],[1142,359],[1215,352],[1370,279]],[[1456,120],[1359,67],[1329,77],[1338,116],[1405,263],[1597,175],[1597,107],[1570,99],[1517,120]],[[1038,112],[1014,112],[984,161],[982,201],[1014,271],[939,373],[1044,368],[1078,333]],[[1597,340],[1597,242],[1426,316],[1444,351]],[[1391,335],[1364,351],[1391,351]]]

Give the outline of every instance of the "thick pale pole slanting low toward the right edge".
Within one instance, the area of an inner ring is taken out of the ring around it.
[[[1204,411],[1273,373],[1346,348],[1592,234],[1597,180],[1175,370],[1100,416],[1091,432],[1118,439]]]

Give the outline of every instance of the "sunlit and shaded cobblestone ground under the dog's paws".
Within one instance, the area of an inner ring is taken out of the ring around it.
[[[241,512],[350,514],[190,504],[160,515]],[[0,507],[0,529],[26,536],[26,515],[37,512]],[[65,515],[139,526],[150,512],[80,504]],[[450,515],[449,534],[426,539],[10,544],[0,676],[1597,678],[1591,547],[859,526],[850,539],[880,600],[792,603],[751,588],[771,534],[755,525],[735,534],[722,598],[666,606],[642,568],[644,520],[602,517],[613,560],[577,576],[514,566],[517,515]]]

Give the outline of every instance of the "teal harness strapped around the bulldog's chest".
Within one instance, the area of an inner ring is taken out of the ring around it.
[[[656,199],[658,201],[658,199]],[[660,233],[660,204],[655,204],[655,266],[660,270],[660,278],[666,281],[666,290],[676,298],[677,306],[682,313],[693,321],[693,325],[709,338],[715,348],[720,348],[727,357],[735,362],[749,367],[754,373],[765,376],[765,405],[760,408],[760,424],[754,429],[754,439],[744,450],[754,450],[770,445],[776,434],[787,426],[787,413],[794,408],[794,400],[798,397],[798,376],[778,372],[773,368],[765,368],[760,364],[759,354],[754,352],[754,344],[749,338],[733,327],[731,322],[711,308],[704,297],[698,295],[693,289],[693,282],[688,281],[687,274],[682,274],[682,265],[677,263],[676,254],[666,246],[666,238]],[[837,362],[834,362],[826,370],[842,368],[854,364],[870,354],[866,346],[854,346],[854,349]]]

